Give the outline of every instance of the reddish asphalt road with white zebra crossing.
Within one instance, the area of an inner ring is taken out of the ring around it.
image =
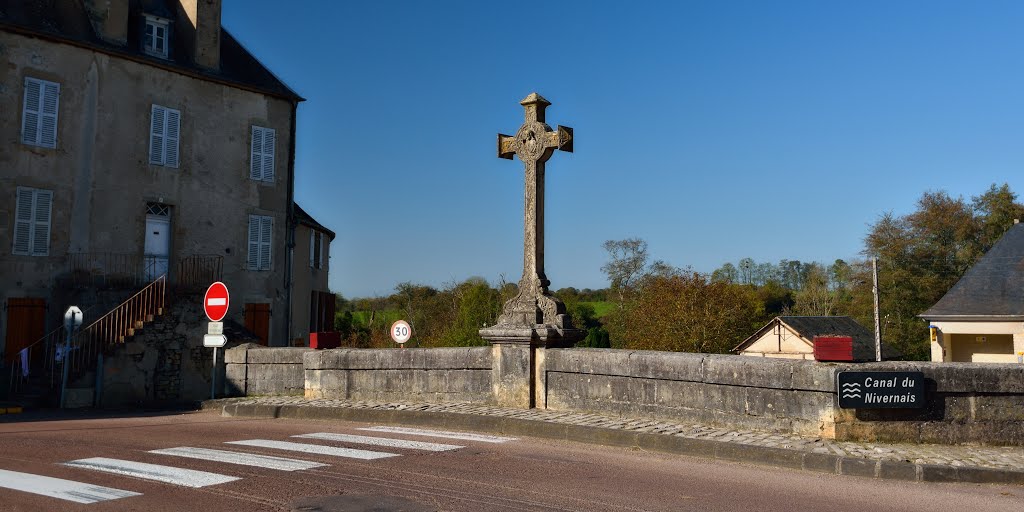
[[[348,422],[222,418],[212,412],[12,419],[0,420],[0,510],[1024,510],[1024,486],[873,480],[527,437],[487,442],[494,439],[368,431],[361,429],[380,425]],[[294,437],[314,433],[356,437]],[[396,439],[450,446],[394,445]],[[266,459],[247,466],[151,452],[166,449]],[[393,456],[349,458],[381,453]],[[141,471],[135,476],[106,472],[137,463],[155,466],[129,469]],[[271,467],[278,463],[301,468]],[[146,479],[165,472],[170,478],[197,478],[190,483],[204,486]],[[210,482],[217,478],[229,481]],[[34,494],[65,487],[63,498]],[[69,498],[103,501],[81,504]]]

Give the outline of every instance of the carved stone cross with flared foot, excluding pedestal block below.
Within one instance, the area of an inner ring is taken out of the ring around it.
[[[555,150],[572,153],[572,129],[552,130],[544,122],[551,103],[532,93],[519,102],[525,121],[515,135],[498,134],[498,156],[519,157],[526,167],[523,268],[519,293],[505,304],[498,325],[481,329],[480,336],[497,342],[575,342],[582,331],[572,329],[565,305],[556,299],[544,274],[544,164]]]

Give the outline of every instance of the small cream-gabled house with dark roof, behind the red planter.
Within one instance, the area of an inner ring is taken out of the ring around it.
[[[853,338],[855,360],[874,360],[874,335],[849,316],[776,316],[732,349],[739,355],[814,360],[815,336]],[[896,358],[896,350],[882,344],[882,358]]]

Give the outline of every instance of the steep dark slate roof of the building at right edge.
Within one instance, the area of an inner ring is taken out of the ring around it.
[[[1024,319],[1024,224],[1014,224],[945,295],[930,321]]]

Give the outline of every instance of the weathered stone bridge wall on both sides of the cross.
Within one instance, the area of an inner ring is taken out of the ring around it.
[[[517,368],[509,372],[509,366],[495,365],[508,356],[497,345],[323,351],[239,347],[228,350],[228,391],[503,404],[510,379],[519,379],[529,381],[523,387],[531,391],[534,407],[554,411],[797,432],[840,440],[1024,445],[1021,365],[838,365],[589,348],[516,347],[515,353],[523,350],[529,353],[527,366],[532,371]],[[274,355],[276,352],[281,354]],[[836,374],[846,370],[923,372],[929,407],[839,409]]]

